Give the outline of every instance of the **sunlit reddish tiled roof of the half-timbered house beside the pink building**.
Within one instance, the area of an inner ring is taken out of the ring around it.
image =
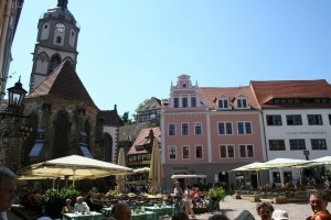
[[[146,154],[149,153],[146,150],[142,151],[137,151],[136,146],[142,146],[142,145],[150,145],[152,144],[151,141],[151,130],[152,130],[152,134],[154,135],[154,139],[160,143],[161,142],[161,131],[159,127],[154,127],[154,128],[147,128],[147,129],[142,129],[139,133],[139,135],[137,136],[135,143],[132,144],[131,148],[128,152],[129,154]]]

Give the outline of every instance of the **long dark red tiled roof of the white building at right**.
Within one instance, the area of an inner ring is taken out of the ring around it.
[[[318,80],[275,80],[275,81],[250,81],[250,87],[261,108],[313,108],[329,107],[331,103],[316,103],[308,99],[331,98],[331,86],[324,79]],[[268,105],[271,99],[307,99],[301,103],[277,103]]]

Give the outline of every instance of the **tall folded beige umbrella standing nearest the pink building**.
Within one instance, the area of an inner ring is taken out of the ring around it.
[[[159,141],[153,139],[153,147],[150,161],[150,172],[148,179],[151,183],[151,193],[157,194],[159,191],[159,186],[163,180],[163,168],[161,164],[161,154],[159,147]]]

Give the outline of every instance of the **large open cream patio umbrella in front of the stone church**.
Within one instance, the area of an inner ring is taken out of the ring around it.
[[[32,164],[18,170],[18,175],[44,178],[65,178],[73,180],[100,178],[111,175],[132,174],[134,169],[88,158],[78,155],[64,156],[55,160]]]

